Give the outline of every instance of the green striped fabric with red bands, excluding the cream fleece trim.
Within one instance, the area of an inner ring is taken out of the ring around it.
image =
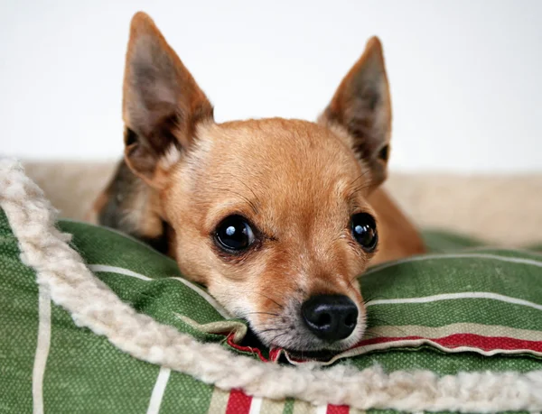
[[[74,235],[73,246],[98,278],[138,312],[232,353],[304,363],[280,349],[243,347],[243,322],[229,319],[201,286],[182,278],[175,262],[145,244],[97,226],[60,226]],[[379,363],[388,372],[441,375],[540,369],[542,256],[476,248],[446,235],[428,235],[428,241],[435,253],[386,263],[363,277],[368,335],[322,363],[360,369]],[[470,248],[460,251],[465,245]],[[448,249],[455,253],[443,253]],[[1,212],[0,334],[0,413],[360,412],[220,391],[120,352],[105,337],[77,327],[49,291],[38,288]]]

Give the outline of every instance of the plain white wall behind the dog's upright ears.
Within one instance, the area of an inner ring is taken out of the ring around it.
[[[542,170],[542,0],[0,0],[0,153],[120,155],[137,10],[154,18],[219,121],[314,119],[377,34],[393,169]]]

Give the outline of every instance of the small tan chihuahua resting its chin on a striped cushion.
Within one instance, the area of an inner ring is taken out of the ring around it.
[[[377,38],[318,122],[217,124],[153,20],[135,14],[124,79],[124,160],[94,206],[102,225],[171,255],[182,273],[291,351],[358,343],[369,263],[423,253],[379,188],[391,103]]]

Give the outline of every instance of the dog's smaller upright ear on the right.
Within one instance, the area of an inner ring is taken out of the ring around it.
[[[391,135],[391,101],[382,46],[373,37],[360,60],[342,79],[321,121],[340,124],[352,138],[354,152],[367,163],[372,184],[387,176]]]

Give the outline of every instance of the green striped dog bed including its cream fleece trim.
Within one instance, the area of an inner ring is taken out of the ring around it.
[[[243,322],[145,244],[70,221],[47,233],[49,207],[16,164],[0,166],[0,204],[0,412],[542,409],[537,253],[427,234],[455,252],[369,270],[368,336],[314,363],[243,346]],[[98,283],[79,283],[88,270]]]

